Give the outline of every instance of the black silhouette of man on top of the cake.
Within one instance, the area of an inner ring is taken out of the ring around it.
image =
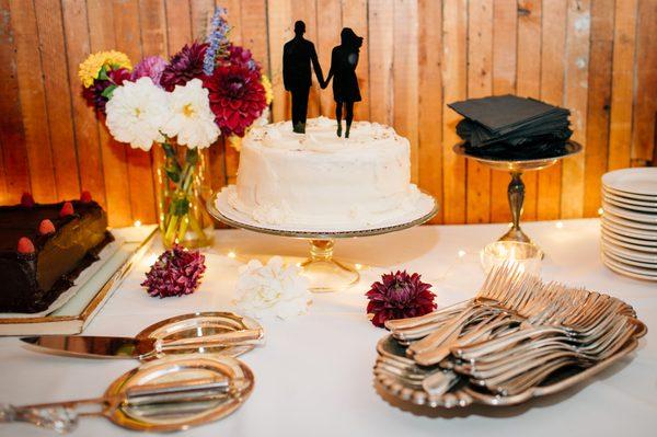
[[[303,38],[306,23],[297,21],[295,37],[283,47],[283,83],[286,91],[292,93],[292,129],[297,134],[306,133],[308,94],[312,84],[311,62],[318,82],[324,81],[314,45]]]

